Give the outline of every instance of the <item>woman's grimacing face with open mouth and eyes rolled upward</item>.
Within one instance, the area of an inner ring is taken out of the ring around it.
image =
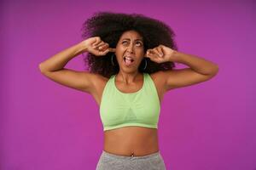
[[[115,55],[120,69],[136,71],[144,57],[143,37],[137,31],[125,31],[119,38]]]

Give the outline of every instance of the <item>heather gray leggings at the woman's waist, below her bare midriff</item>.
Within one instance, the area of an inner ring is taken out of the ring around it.
[[[166,170],[160,151],[147,156],[119,156],[102,150],[96,170]]]

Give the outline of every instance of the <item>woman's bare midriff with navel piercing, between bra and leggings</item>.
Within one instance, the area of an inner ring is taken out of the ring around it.
[[[159,150],[156,128],[119,127],[104,131],[104,150],[119,156],[146,156]]]

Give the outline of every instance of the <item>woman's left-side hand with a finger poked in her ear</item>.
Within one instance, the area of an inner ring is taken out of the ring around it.
[[[86,51],[96,56],[103,56],[108,52],[115,52],[115,48],[108,48],[107,42],[103,42],[101,37],[90,37],[81,42]]]

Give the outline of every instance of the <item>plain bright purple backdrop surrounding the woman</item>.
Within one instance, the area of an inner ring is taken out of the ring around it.
[[[179,51],[219,66],[211,80],[165,95],[159,141],[167,169],[255,170],[256,5],[230,2],[1,1],[0,169],[96,168],[103,149],[96,101],[50,81],[38,64],[82,41],[84,20],[108,10],[166,22]],[[82,59],[67,68],[84,70]]]

